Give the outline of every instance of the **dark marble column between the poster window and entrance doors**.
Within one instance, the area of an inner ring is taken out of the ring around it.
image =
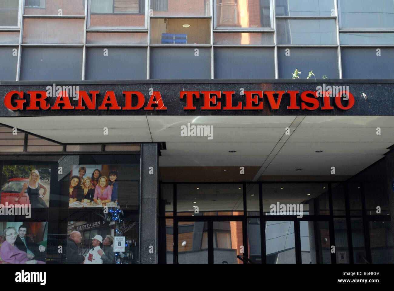
[[[141,145],[139,262],[154,264],[158,257],[158,145]]]

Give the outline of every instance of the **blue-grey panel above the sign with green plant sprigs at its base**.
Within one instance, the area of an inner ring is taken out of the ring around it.
[[[290,48],[286,56],[285,48],[278,48],[279,78],[292,78],[295,69],[300,71],[300,78],[307,78],[313,70],[312,78],[338,78],[338,53],[336,48]],[[345,78],[345,77],[344,77]]]

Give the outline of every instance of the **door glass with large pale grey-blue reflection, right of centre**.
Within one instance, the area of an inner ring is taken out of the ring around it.
[[[266,222],[267,264],[295,264],[294,222]]]

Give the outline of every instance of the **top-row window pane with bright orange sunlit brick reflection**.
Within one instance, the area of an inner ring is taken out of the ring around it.
[[[269,0],[216,1],[216,29],[270,28]]]

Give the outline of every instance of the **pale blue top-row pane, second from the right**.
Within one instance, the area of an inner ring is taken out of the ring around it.
[[[333,0],[276,0],[276,16],[335,16]]]

